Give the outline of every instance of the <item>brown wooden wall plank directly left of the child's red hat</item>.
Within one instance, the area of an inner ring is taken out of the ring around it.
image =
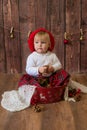
[[[30,54],[28,48],[28,32],[35,28],[35,7],[34,0],[19,0],[19,17],[20,17],[20,43],[22,56],[22,72],[25,72],[26,59]]]

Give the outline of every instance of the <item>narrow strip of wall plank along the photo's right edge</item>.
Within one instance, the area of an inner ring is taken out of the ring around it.
[[[87,1],[81,0],[83,40],[81,41],[81,72],[87,72]]]

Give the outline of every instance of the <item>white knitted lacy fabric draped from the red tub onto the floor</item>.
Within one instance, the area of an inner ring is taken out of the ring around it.
[[[29,107],[35,88],[36,86],[23,85],[18,90],[4,92],[1,106],[11,112],[20,111]]]

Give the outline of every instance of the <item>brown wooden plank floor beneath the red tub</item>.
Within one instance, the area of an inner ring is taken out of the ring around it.
[[[0,74],[0,101],[4,91],[17,89],[20,74]],[[72,78],[87,85],[87,74],[75,74]],[[32,107],[9,112],[0,106],[0,130],[87,130],[87,95],[79,102],[41,105],[43,110],[34,112]]]

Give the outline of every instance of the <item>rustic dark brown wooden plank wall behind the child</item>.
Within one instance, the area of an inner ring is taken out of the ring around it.
[[[0,72],[25,72],[28,32],[39,27],[53,33],[54,51],[66,70],[87,72],[87,0],[0,0]],[[64,44],[64,32],[71,34],[71,44]]]

